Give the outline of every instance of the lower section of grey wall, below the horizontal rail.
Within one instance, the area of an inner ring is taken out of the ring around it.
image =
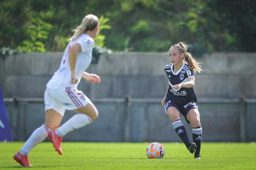
[[[65,141],[143,142],[180,141],[171,120],[158,100],[94,100],[99,118],[93,124],[71,132]],[[6,110],[15,141],[24,141],[44,123],[44,104],[40,100],[6,101]],[[199,101],[203,141],[256,141],[256,102],[248,103],[241,123],[241,104],[233,101]],[[62,122],[74,113],[66,111]],[[191,127],[182,117],[190,140]],[[245,124],[244,124],[245,123]],[[245,127],[241,127],[245,125]],[[243,129],[243,131],[241,131]],[[244,139],[243,139],[244,135]]]

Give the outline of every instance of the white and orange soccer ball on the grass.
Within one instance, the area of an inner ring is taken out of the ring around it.
[[[161,159],[164,157],[164,146],[161,143],[153,142],[146,150],[149,159]]]

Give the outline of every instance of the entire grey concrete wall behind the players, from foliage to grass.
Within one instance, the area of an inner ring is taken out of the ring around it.
[[[14,140],[26,140],[44,123],[43,94],[59,67],[61,53],[31,53],[0,58],[0,85]],[[256,141],[255,53],[213,53],[198,59],[204,72],[196,76],[195,91],[204,141]],[[101,76],[100,84],[82,81],[79,89],[95,101],[100,118],[72,132],[66,141],[180,141],[165,115],[165,53],[114,53],[101,56],[87,72]],[[12,101],[12,97],[19,97]],[[126,103],[125,96],[132,100]],[[32,99],[24,99],[32,98]],[[39,99],[38,99],[39,98]],[[63,122],[73,114],[67,112]],[[185,123],[185,121],[183,120]],[[189,137],[191,128],[186,124]]]

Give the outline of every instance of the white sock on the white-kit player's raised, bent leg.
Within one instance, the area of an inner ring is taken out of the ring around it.
[[[62,124],[55,133],[63,137],[67,133],[74,131],[76,129],[82,128],[83,126],[92,123],[92,119],[90,116],[87,116],[86,114],[78,113],[71,117],[67,122]]]

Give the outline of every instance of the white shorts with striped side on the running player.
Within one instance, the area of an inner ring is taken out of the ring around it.
[[[54,109],[64,116],[65,110],[82,108],[89,103],[90,99],[82,91],[66,87],[64,89],[49,89],[44,92],[45,112]]]

